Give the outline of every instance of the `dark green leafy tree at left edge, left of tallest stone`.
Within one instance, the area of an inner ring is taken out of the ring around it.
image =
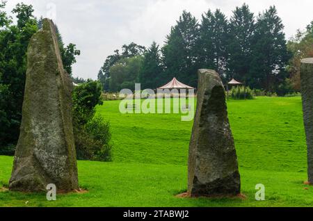
[[[1,2],[1,8],[6,6]],[[3,11],[0,12],[0,146],[15,144],[22,119],[22,103],[26,74],[26,51],[31,36],[37,31],[32,6],[19,3],[13,9],[17,25],[13,25]]]

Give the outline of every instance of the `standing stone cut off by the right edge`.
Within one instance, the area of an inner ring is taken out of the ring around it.
[[[307,137],[307,177],[309,183],[313,184],[313,58],[301,60],[300,80]]]

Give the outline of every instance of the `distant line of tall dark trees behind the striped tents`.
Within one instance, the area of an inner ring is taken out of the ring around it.
[[[163,47],[156,42],[147,49],[124,45],[121,53],[106,58],[98,79],[111,92],[134,89],[134,83],[155,89],[174,76],[196,88],[197,70],[209,68],[224,83],[235,78],[250,88],[284,95],[295,90],[288,69],[295,51],[287,45],[275,6],[255,15],[243,4],[229,19],[221,10],[208,10],[200,22],[184,11]]]

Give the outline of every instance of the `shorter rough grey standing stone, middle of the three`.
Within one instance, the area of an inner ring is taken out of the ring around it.
[[[198,104],[189,145],[188,193],[191,197],[234,196],[240,175],[225,102],[214,70],[198,71]]]

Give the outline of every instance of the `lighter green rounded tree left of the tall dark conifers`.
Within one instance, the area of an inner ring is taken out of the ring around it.
[[[138,73],[143,65],[143,56],[122,58],[110,68],[109,89],[118,92],[124,88],[135,90]]]

